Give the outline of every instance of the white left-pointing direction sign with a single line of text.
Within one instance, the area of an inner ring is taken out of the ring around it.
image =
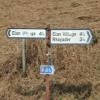
[[[12,28],[7,30],[7,36],[11,38],[46,38],[45,29],[17,29]]]

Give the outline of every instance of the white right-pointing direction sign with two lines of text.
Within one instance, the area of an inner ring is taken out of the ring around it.
[[[92,38],[89,29],[51,30],[51,44],[90,44]]]

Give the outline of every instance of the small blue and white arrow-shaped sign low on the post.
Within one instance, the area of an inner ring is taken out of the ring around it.
[[[55,68],[53,65],[41,65],[40,66],[40,74],[53,75],[54,72],[55,72]]]

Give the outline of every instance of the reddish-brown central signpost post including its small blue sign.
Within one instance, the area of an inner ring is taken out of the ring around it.
[[[40,74],[45,75],[46,82],[46,100],[51,100],[51,80],[50,75],[53,75],[55,68],[51,62],[51,29],[50,26],[47,27],[47,37],[46,37],[46,56],[47,56],[47,65],[40,66]]]

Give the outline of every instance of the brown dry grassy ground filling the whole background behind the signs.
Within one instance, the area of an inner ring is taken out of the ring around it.
[[[0,0],[0,100],[45,100],[45,40],[27,40],[27,77],[21,77],[21,40],[7,28],[90,28],[97,43],[52,47],[52,100],[100,100],[100,0]]]

